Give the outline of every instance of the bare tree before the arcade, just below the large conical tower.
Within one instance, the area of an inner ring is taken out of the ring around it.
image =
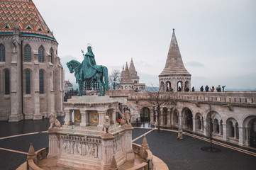
[[[157,130],[160,131],[160,116],[163,114],[160,111],[161,106],[166,106],[169,103],[175,103],[175,95],[173,91],[169,91],[168,93],[163,93],[160,91],[162,86],[159,87],[159,89],[152,86],[151,91],[149,89],[145,89],[145,94],[148,95],[148,98],[146,101],[150,103],[151,106],[155,106],[156,112],[155,117],[157,118]]]

